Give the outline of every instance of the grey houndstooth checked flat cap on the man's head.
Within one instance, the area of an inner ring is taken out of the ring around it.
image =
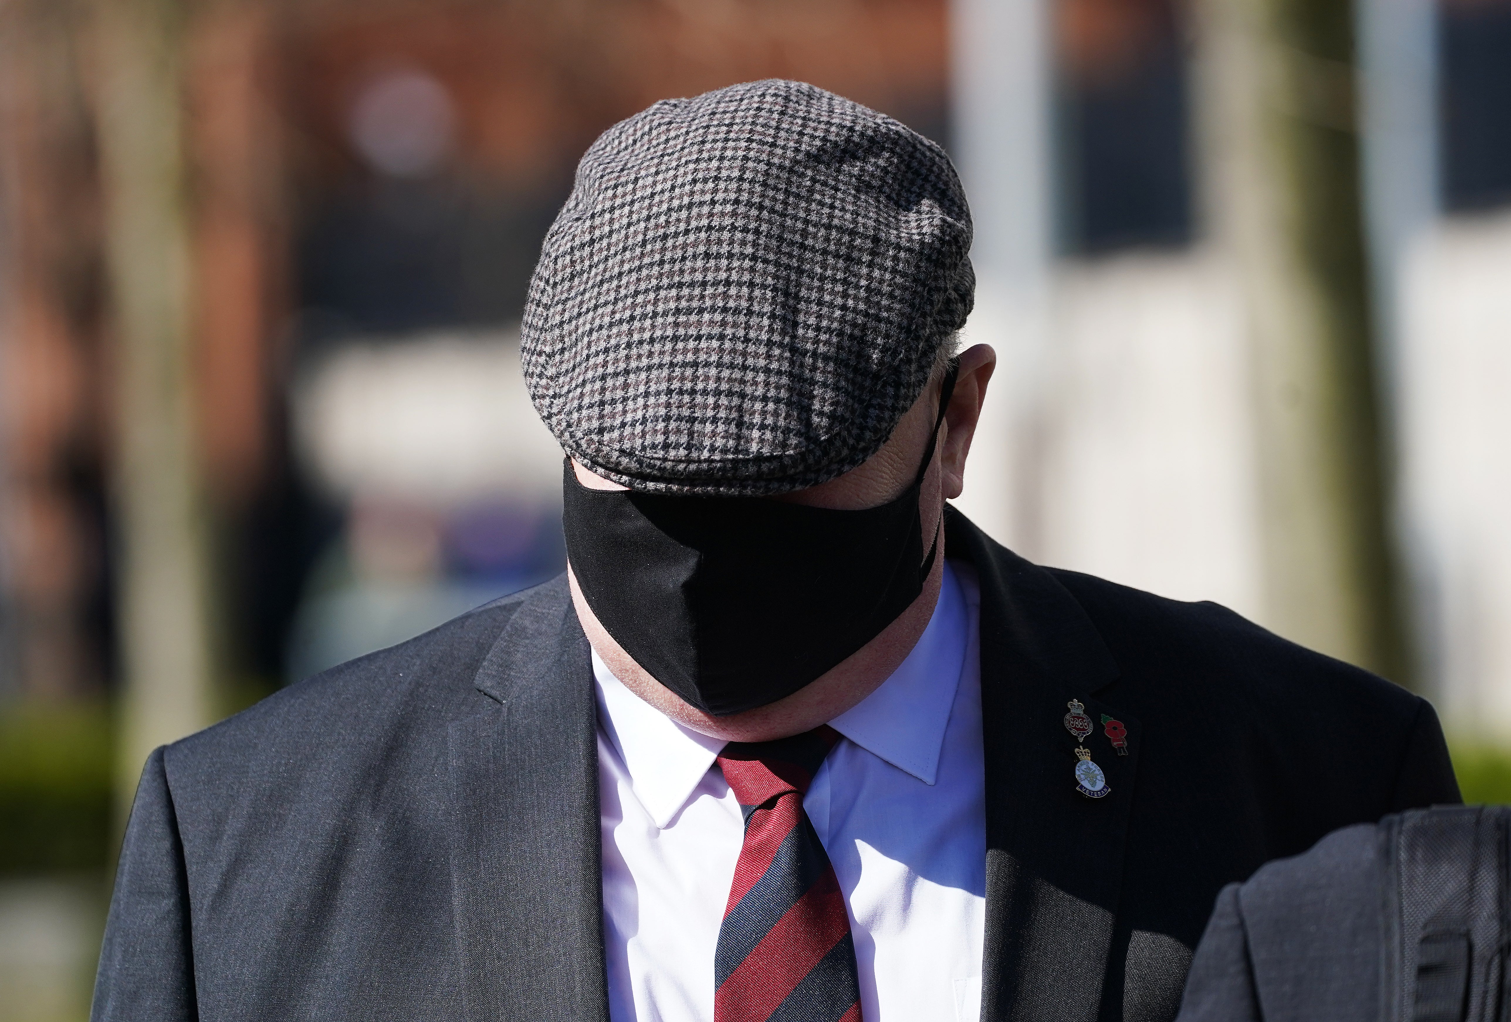
[[[524,310],[530,399],[632,490],[825,482],[966,322],[969,249],[949,157],[888,116],[781,80],[665,100],[577,165]]]

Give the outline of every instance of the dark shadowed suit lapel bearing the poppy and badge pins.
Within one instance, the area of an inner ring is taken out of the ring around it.
[[[1076,599],[956,511],[949,511],[946,528],[949,550],[969,556],[981,581],[982,1019],[1092,1022],[1123,881],[1141,729],[1097,698],[1118,670]],[[1082,742],[1064,723],[1071,698],[1094,724]],[[1105,735],[1103,715],[1126,726],[1127,756]],[[1077,744],[1106,773],[1106,797],[1076,791]]]

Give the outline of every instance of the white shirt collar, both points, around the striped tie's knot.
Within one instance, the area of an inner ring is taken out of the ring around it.
[[[969,635],[966,599],[949,562],[934,617],[896,671],[830,724],[898,770],[932,785]],[[635,797],[666,827],[713,766],[724,739],[663,715],[627,689],[592,652],[598,721],[630,774]]]

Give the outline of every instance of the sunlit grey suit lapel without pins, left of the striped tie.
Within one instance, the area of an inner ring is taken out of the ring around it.
[[[595,705],[564,579],[515,611],[450,726],[465,1017],[607,1022]]]

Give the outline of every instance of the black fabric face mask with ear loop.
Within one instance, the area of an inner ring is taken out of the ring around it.
[[[923,591],[917,476],[888,503],[836,511],[762,497],[591,490],[565,464],[567,559],[594,615],[656,680],[724,717],[775,703],[876,638]]]

